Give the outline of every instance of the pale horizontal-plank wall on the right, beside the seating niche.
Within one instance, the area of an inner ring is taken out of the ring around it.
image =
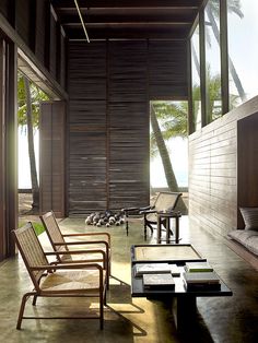
[[[237,181],[237,121],[257,109],[258,97],[189,137],[189,214],[192,226],[198,225],[222,236],[237,227],[237,187],[246,189],[246,185]]]

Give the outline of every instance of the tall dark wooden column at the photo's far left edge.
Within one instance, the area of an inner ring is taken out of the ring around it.
[[[17,227],[16,47],[0,37],[0,260],[15,253]]]

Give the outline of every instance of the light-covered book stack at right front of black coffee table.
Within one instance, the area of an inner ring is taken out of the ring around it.
[[[183,280],[187,289],[220,289],[221,282],[215,272],[184,272]]]

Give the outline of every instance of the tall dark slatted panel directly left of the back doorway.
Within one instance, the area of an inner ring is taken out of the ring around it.
[[[108,188],[110,209],[150,201],[146,42],[109,43]]]

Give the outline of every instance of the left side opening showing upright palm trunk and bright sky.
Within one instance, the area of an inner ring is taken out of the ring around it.
[[[38,156],[40,102],[48,95],[17,72],[19,213],[39,211]]]

